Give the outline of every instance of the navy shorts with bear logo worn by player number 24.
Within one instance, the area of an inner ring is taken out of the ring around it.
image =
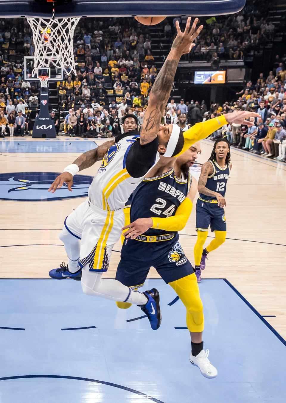
[[[153,266],[165,283],[179,280],[194,272],[176,236],[175,240],[142,242],[125,239],[121,260],[117,267],[116,280],[127,287],[144,285],[150,267]]]

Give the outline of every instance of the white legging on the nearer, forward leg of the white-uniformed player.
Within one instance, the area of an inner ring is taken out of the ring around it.
[[[101,272],[90,272],[88,264],[82,269],[81,287],[87,295],[112,299],[113,301],[130,302],[136,305],[147,303],[147,297],[126,287],[120,281],[101,278]]]

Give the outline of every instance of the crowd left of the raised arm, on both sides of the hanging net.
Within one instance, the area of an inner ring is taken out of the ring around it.
[[[0,107],[6,118],[6,125],[4,118],[1,122],[2,136],[14,134],[10,132],[7,113],[11,110],[17,116],[19,104],[26,109],[22,110],[21,130],[17,129],[15,135],[24,135],[31,129],[28,127],[29,110],[39,105],[39,88],[33,86],[33,82],[23,81],[23,56],[33,56],[33,53],[32,32],[27,21],[0,20]],[[120,25],[115,18],[81,19],[75,29],[74,55],[77,75],[65,75],[56,88],[58,112],[70,108],[75,111],[75,116],[67,116],[61,128],[71,136],[116,134],[127,108],[141,112],[146,106],[157,76],[148,28],[135,24],[132,18],[120,19]],[[110,118],[104,115],[104,108],[108,109]],[[123,110],[121,115],[120,109]],[[84,110],[84,123],[77,122],[77,118],[82,120],[81,110]],[[55,115],[53,119],[58,131],[60,116]],[[106,122],[111,124],[106,125]]]

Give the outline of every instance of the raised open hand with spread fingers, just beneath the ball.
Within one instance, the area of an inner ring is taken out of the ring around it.
[[[199,35],[203,26],[200,25],[198,29],[196,29],[196,25],[198,23],[198,18],[194,19],[192,27],[190,27],[191,17],[188,17],[185,31],[182,32],[180,29],[179,21],[176,21],[177,28],[177,36],[174,39],[172,49],[178,52],[180,56],[185,53],[190,53],[190,50],[196,46],[194,44],[194,39]]]

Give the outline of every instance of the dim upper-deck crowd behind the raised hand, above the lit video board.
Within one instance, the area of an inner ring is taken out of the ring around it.
[[[217,68],[221,59],[242,59],[251,50],[259,49],[275,38],[275,25],[267,18],[267,4],[261,1],[247,1],[241,12],[229,16],[201,17],[199,23],[204,29],[196,38],[196,46],[189,60],[207,60]],[[175,37],[175,21],[183,27],[187,16],[175,17],[167,21],[164,34],[167,38]]]

